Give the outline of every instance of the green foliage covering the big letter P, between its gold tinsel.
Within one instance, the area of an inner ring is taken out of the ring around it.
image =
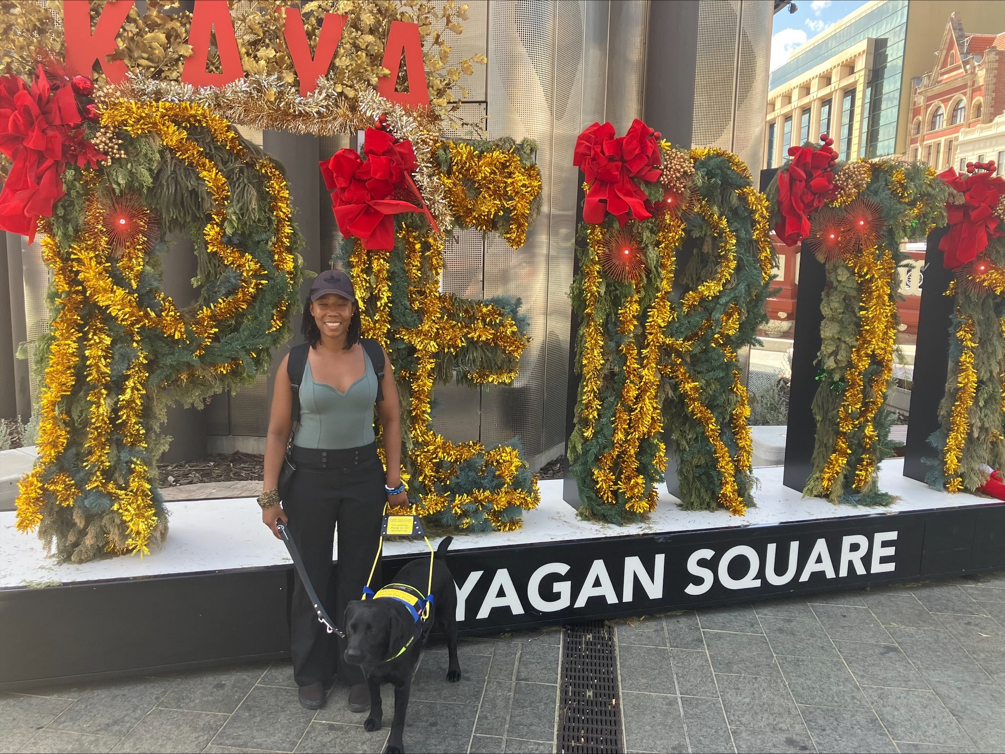
[[[87,129],[87,137],[91,138],[94,126],[88,125]],[[128,484],[131,461],[134,458],[140,459],[149,468],[153,505],[158,520],[157,528],[150,538],[150,546],[160,544],[167,534],[167,512],[164,500],[157,491],[155,465],[158,456],[171,441],[170,436],[158,432],[166,421],[167,408],[173,404],[202,408],[209,396],[227,389],[236,390],[252,383],[257,375],[264,373],[271,359],[269,349],[288,340],[291,332],[288,322],[279,329],[268,332],[273,312],[284,303],[288,307],[287,315],[293,313],[297,306],[296,292],[303,275],[299,254],[294,255],[291,280],[275,268],[271,244],[276,222],[269,210],[270,196],[262,175],[223,150],[205,129],[193,127],[187,130],[199,147],[215,161],[230,187],[224,242],[253,256],[265,270],[265,276],[264,285],[251,307],[222,322],[212,343],[202,354],[196,353],[191,346],[180,346],[179,341],[169,338],[160,330],[147,328],[141,332],[141,350],[147,356],[149,370],[142,417],[147,447],[138,452],[136,448],[124,443],[123,435],[117,428],[109,438],[112,462],[110,476],[119,487],[124,488]],[[209,259],[205,252],[202,232],[208,215],[215,206],[198,173],[171,155],[155,137],[134,138],[125,131],[119,132],[118,137],[123,143],[122,149],[126,157],[117,158],[99,169],[96,182],[93,177],[85,178],[82,171],[73,165],[69,165],[63,175],[66,193],[56,203],[50,223],[52,236],[58,242],[61,253],[68,253],[82,227],[84,207],[90,193],[97,192],[99,197],[105,198],[134,194],[139,197],[139,204],[159,219],[161,228],[160,240],[146,255],[136,288],[140,308],[155,314],[162,312],[156,294],[161,290],[162,257],[169,248],[165,239],[177,232],[188,234],[201,255],[200,272],[193,280],[193,285],[201,286],[201,290],[197,300],[183,310],[183,314],[194,315],[203,306],[233,294],[239,285],[238,273],[223,267],[215,257]],[[250,143],[244,142],[243,145],[254,157],[264,157]],[[290,250],[295,252],[303,245],[303,238],[294,230]],[[116,264],[111,265],[111,270],[118,287],[130,288]],[[57,311],[58,297],[55,290],[49,291],[49,309],[53,314]],[[137,349],[132,345],[131,334],[104,314],[87,297],[80,316],[84,323],[92,317],[100,318],[111,335],[108,401],[114,411],[122,397],[126,372],[138,356]],[[44,371],[48,363],[52,345],[51,335],[46,335],[39,341],[36,357],[41,371]],[[87,384],[85,377],[83,338],[80,339],[79,349],[80,359],[76,367],[73,391],[58,405],[58,411],[68,417],[66,428],[69,438],[66,450],[52,467],[46,469],[46,479],[65,472],[77,489],[83,492],[70,507],[58,505],[49,496],[38,526],[39,538],[47,546],[54,544],[57,558],[74,563],[130,549],[127,545],[126,525],[119,511],[114,508],[113,499],[96,487],[87,487],[91,470],[84,462],[83,448],[91,408],[88,391],[92,386]],[[237,366],[225,374],[213,370],[214,365],[234,360],[237,360]],[[180,379],[182,375],[184,379]]]

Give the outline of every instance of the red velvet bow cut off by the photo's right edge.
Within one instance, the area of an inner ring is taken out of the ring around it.
[[[988,246],[988,239],[1002,234],[995,208],[1005,194],[1005,178],[990,172],[973,175],[957,173],[950,168],[939,174],[946,183],[964,197],[963,204],[946,203],[949,232],[939,241],[946,252],[944,264],[953,269],[977,257]]]

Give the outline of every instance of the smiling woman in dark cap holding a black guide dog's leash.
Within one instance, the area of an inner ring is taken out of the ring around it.
[[[346,605],[362,595],[377,555],[384,502],[407,503],[401,483],[398,390],[387,353],[379,345],[371,345],[371,357],[361,342],[359,304],[345,272],[329,269],[315,278],[304,307],[301,329],[309,347],[291,450],[296,472],[280,508],[279,469],[292,429],[293,406],[286,356],[275,375],[265,442],[265,481],[258,503],[262,522],[276,537],[276,521],[289,522],[289,533],[322,599],[330,594],[332,544],[338,529],[338,583],[331,614],[337,624],[344,625]],[[378,353],[383,355],[382,364],[372,363],[379,358]],[[378,381],[381,372],[384,377]],[[378,399],[378,383],[383,399]],[[377,455],[375,403],[384,433],[386,475]],[[383,583],[380,578],[378,564],[374,582]],[[290,653],[300,704],[310,710],[320,709],[325,704],[326,685],[338,675],[350,686],[349,709],[365,711],[370,706],[370,693],[363,672],[345,663],[344,640],[328,633],[318,621],[298,577],[291,612]]]

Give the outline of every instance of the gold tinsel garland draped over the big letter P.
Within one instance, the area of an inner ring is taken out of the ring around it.
[[[51,235],[46,234],[42,240],[43,259],[53,269],[54,286],[61,298],[57,300],[57,314],[52,326],[53,345],[40,400],[39,461],[22,480],[17,502],[17,525],[20,531],[32,530],[41,523],[41,509],[45,504],[46,493],[51,494],[60,505],[68,506],[73,504],[79,492],[65,472],[50,475],[49,469],[66,447],[67,417],[60,414],[57,407],[71,393],[75,384],[82,338],[85,364],[83,376],[90,385],[87,392],[88,425],[83,441],[83,467],[87,475],[85,487],[109,495],[114,510],[119,512],[126,524],[125,550],[120,550],[110,542],[110,551],[148,551],[150,538],[159,526],[152,498],[150,469],[146,462],[134,458],[130,461],[130,473],[124,486],[116,483],[111,469],[112,341],[107,321],[115,322],[125,329],[135,354],[115,400],[115,425],[122,435],[124,445],[139,453],[147,447],[144,406],[149,379],[147,365],[150,361],[150,354],[143,348],[143,332],[156,329],[168,338],[193,348],[194,355],[198,357],[213,342],[219,326],[247,309],[265,285],[265,270],[254,257],[223,242],[226,206],[230,200],[226,178],[202,149],[188,138],[187,133],[177,125],[179,123],[205,127],[224,149],[253,163],[255,169],[262,173],[275,218],[272,262],[287,279],[292,279],[295,263],[289,251],[293,232],[290,223],[292,208],[285,180],[271,162],[252,160],[228,124],[198,106],[177,103],[109,103],[102,114],[104,127],[122,128],[133,136],[156,135],[166,148],[199,173],[217,206],[204,230],[206,249],[209,253],[218,255],[227,266],[237,269],[241,281],[232,296],[202,307],[191,319],[183,317],[172,300],[159,292],[155,295],[161,308],[159,313],[141,307],[136,287],[144,263],[138,246],[142,240],[137,239],[133,246],[127,246],[117,260],[111,257],[105,212],[96,194],[97,182],[88,182],[90,194],[84,203],[83,224],[68,251],[62,253]],[[118,267],[127,288],[116,282],[113,264]],[[80,322],[79,316],[84,304],[96,307],[85,326]],[[270,332],[282,326],[285,306],[282,303],[273,312]],[[251,356],[253,358],[254,354]],[[226,374],[234,367],[233,362],[228,362],[210,365],[209,369],[216,374]],[[185,380],[189,376],[188,373],[182,374],[179,379]]]

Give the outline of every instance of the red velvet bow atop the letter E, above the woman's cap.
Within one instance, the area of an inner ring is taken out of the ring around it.
[[[435,220],[422,201],[411,173],[418,167],[410,141],[398,142],[386,131],[367,129],[363,160],[356,151],[341,149],[321,163],[325,185],[339,230],[356,237],[366,249],[394,248],[394,215],[422,212],[437,232]],[[405,194],[414,201],[393,198]]]

